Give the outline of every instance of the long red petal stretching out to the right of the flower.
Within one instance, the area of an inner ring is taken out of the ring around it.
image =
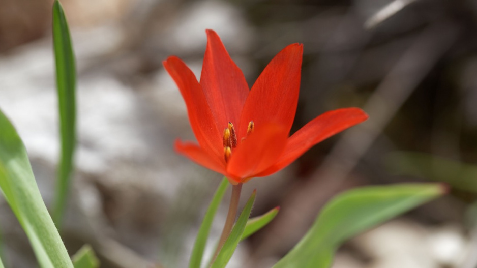
[[[257,176],[267,176],[288,166],[316,143],[365,121],[368,115],[359,108],[344,108],[325,112],[288,138],[280,160]]]

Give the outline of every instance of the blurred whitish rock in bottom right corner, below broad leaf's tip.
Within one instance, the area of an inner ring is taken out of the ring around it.
[[[468,242],[457,226],[429,228],[393,220],[355,237],[351,244],[371,259],[369,267],[439,268],[461,261]]]

